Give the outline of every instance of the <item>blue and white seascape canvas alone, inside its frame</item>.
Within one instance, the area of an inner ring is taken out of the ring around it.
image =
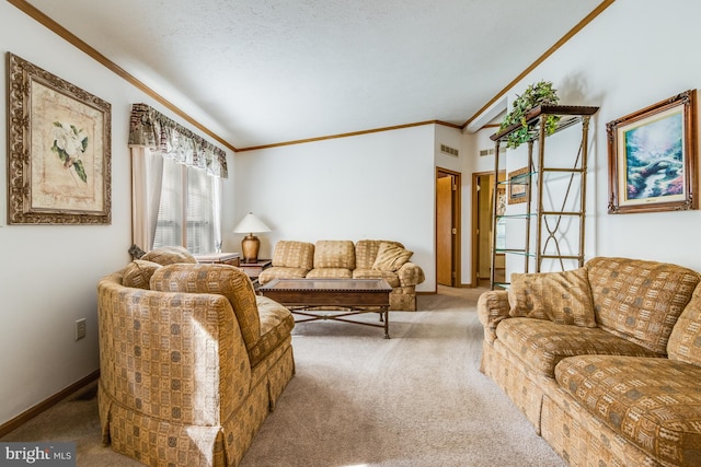
[[[683,196],[681,109],[624,131],[628,201]]]

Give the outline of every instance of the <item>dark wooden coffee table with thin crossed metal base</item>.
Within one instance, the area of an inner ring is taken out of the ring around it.
[[[384,279],[273,279],[265,285],[261,285],[260,292],[287,306],[290,312],[306,316],[297,319],[297,323],[332,319],[383,327],[384,338],[390,338],[389,307],[392,288]],[[348,308],[348,311],[330,314],[310,310],[324,306]],[[377,308],[380,311],[378,312]],[[361,313],[379,313],[381,324],[347,319],[348,316]]]

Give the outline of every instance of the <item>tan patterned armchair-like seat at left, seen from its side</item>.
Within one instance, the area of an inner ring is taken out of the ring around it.
[[[291,313],[179,247],[103,278],[97,313],[103,443],[150,466],[239,465],[295,373]]]

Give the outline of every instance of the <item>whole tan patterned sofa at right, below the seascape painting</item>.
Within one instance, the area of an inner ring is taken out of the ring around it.
[[[701,465],[701,285],[599,257],[480,296],[482,371],[573,466]]]

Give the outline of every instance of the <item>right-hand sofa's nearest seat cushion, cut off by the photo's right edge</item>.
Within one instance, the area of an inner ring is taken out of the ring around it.
[[[701,367],[583,355],[561,361],[555,378],[589,415],[665,465],[701,465]]]

